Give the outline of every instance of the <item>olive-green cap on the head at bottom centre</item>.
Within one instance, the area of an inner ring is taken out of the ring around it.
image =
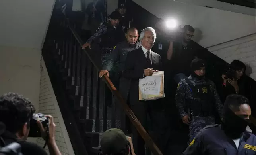
[[[119,153],[129,144],[128,138],[120,129],[106,130],[101,136],[101,151],[104,154]]]

